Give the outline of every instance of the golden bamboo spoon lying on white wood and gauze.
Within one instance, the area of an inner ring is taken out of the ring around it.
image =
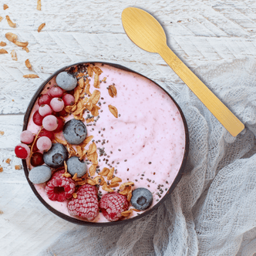
[[[167,46],[167,38],[163,28],[153,16],[140,8],[129,7],[123,10],[122,22],[128,37],[141,49],[160,54],[232,136],[237,136],[244,130],[244,124]]]

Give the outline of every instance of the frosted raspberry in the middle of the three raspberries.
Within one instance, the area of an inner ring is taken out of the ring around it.
[[[72,198],[68,203],[69,214],[93,221],[99,211],[96,187],[89,184],[83,185],[79,187],[76,194],[77,197]]]

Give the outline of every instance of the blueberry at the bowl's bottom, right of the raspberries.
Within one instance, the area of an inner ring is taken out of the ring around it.
[[[147,188],[139,187],[133,190],[133,196],[130,202],[137,210],[146,210],[152,204],[153,196]]]

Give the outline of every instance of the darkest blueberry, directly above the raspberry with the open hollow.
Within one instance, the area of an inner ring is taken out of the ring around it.
[[[45,153],[43,153],[43,160],[52,168],[62,167],[64,161],[69,157],[68,150],[62,144],[53,143],[52,147]]]

